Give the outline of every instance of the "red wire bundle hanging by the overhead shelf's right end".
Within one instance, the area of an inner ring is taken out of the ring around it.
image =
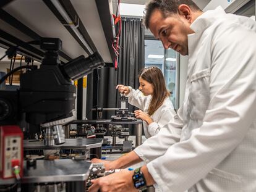
[[[116,15],[113,14],[113,18],[114,18],[114,25],[116,25],[118,27],[117,30],[117,34],[113,39],[112,42],[112,48],[114,49],[114,53],[116,54],[116,59],[114,62],[114,68],[117,70],[117,57],[119,55],[119,36],[121,33],[121,28],[122,28],[122,21],[121,21],[121,16],[120,16],[120,0],[118,0],[118,4],[117,4],[117,9],[116,9]]]

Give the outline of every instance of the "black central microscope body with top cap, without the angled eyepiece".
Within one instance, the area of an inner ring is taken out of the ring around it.
[[[66,119],[75,109],[75,86],[62,74],[59,61],[61,40],[42,38],[45,56],[40,69],[20,75],[20,104],[26,122],[33,125]]]

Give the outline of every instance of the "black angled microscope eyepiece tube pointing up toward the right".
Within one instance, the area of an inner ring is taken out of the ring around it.
[[[85,56],[79,56],[74,60],[67,62],[66,64],[62,65],[62,69],[66,73],[67,77],[72,80],[77,80],[88,73],[92,73],[93,69],[103,67],[104,65],[105,64],[100,54],[95,52],[87,58],[85,58]]]

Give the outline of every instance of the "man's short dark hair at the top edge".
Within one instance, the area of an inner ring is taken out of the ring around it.
[[[155,9],[161,10],[165,18],[170,14],[177,14],[178,7],[181,4],[186,4],[193,10],[201,10],[192,0],[151,0],[145,8],[145,15],[143,18],[145,27],[149,27],[149,20]]]

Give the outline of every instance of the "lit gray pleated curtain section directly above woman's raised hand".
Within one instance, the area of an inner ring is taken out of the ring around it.
[[[138,73],[144,67],[144,27],[140,19],[122,17],[118,83],[139,87]]]

